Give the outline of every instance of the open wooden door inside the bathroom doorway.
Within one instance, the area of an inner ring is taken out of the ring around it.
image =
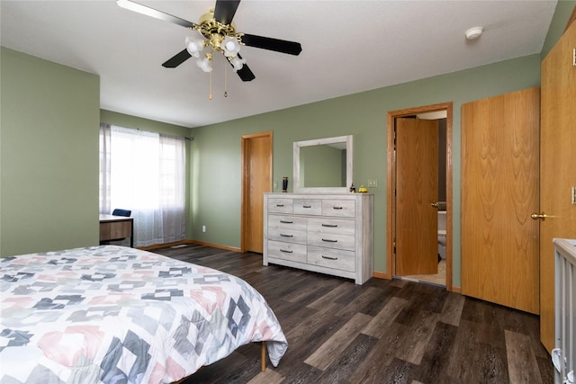
[[[396,119],[397,276],[438,272],[438,122]]]

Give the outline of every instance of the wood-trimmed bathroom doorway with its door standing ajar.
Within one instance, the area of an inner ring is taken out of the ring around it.
[[[452,103],[388,113],[392,277],[452,290]]]

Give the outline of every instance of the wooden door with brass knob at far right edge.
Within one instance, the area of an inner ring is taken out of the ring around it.
[[[552,239],[576,238],[576,22],[542,62],[540,134],[540,338],[554,348],[554,246]]]

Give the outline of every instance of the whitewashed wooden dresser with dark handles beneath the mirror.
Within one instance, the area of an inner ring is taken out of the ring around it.
[[[374,195],[265,193],[264,265],[372,277]]]

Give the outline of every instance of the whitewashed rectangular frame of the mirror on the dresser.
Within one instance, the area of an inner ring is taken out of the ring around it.
[[[306,141],[294,141],[293,152],[293,191],[297,193],[345,193],[349,192],[350,185],[354,180],[352,177],[353,159],[352,135],[338,136],[335,138],[316,138]],[[345,187],[314,187],[306,188],[300,185],[300,148],[311,146],[323,146],[325,144],[346,143],[346,186]]]

